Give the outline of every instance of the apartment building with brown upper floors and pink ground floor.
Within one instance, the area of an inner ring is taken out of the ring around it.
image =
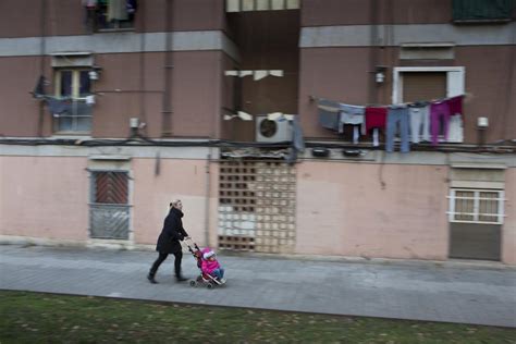
[[[516,263],[511,0],[0,10],[3,242]]]

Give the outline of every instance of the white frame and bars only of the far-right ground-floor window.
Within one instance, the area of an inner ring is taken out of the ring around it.
[[[468,192],[468,193],[474,193],[474,197],[456,197],[456,192]],[[480,193],[496,193],[497,197],[496,198],[481,198]],[[503,219],[505,218],[504,214],[504,200],[505,200],[505,194],[503,191],[500,189],[491,189],[491,188],[451,188],[450,189],[450,196],[449,198],[449,209],[446,213],[449,214],[449,221],[450,222],[459,222],[459,223],[480,223],[480,224],[503,224]],[[455,200],[457,198],[460,199],[472,199],[474,200],[474,212],[455,212]],[[497,211],[496,213],[480,213],[479,212],[479,206],[480,206],[480,199],[489,199],[489,200],[497,200]],[[466,216],[472,216],[472,220],[456,220],[455,216],[457,214],[466,214]],[[479,217],[480,216],[491,216],[491,217],[496,217],[497,221],[480,221]]]

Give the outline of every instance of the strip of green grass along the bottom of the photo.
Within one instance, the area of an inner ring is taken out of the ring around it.
[[[516,343],[516,330],[0,291],[0,343]]]

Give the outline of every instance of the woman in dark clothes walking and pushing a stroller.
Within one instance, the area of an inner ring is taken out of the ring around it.
[[[164,219],[163,230],[158,237],[156,250],[159,253],[159,256],[150,268],[149,274],[147,275],[147,280],[149,280],[150,283],[158,283],[155,280],[156,272],[158,272],[159,266],[170,254],[174,255],[175,257],[175,279],[177,282],[187,280],[181,274],[181,260],[183,259],[183,251],[180,241],[187,238],[188,233],[186,233],[186,231],[183,229],[183,221],[181,218],[183,218],[183,204],[180,199],[176,199],[170,204],[169,214]]]

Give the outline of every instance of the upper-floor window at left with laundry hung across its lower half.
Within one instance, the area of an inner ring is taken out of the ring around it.
[[[89,133],[91,131],[91,106],[87,103],[91,94],[89,70],[56,70],[56,99],[53,130],[60,133]]]

